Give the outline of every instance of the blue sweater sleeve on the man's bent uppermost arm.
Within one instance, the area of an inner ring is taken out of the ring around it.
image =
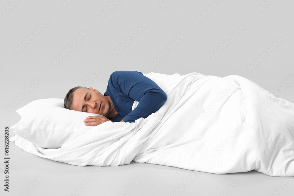
[[[156,112],[167,100],[166,93],[150,78],[137,71],[115,71],[110,80],[118,91],[138,101],[136,108],[123,118],[124,122],[134,122]]]

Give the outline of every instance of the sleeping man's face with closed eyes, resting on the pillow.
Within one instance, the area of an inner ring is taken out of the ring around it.
[[[96,89],[90,89],[91,90],[79,88],[74,91],[71,109],[81,112],[101,114],[107,118],[111,112],[110,101]]]

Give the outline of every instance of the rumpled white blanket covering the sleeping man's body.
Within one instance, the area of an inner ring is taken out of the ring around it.
[[[293,103],[237,75],[144,75],[168,96],[147,118],[107,121],[58,149],[18,135],[10,141],[31,154],[80,166],[133,160],[216,174],[256,170],[294,176]]]

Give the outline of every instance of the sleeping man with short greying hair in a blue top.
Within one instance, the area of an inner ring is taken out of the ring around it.
[[[134,110],[134,101],[138,105]],[[115,71],[110,75],[106,92],[94,88],[71,88],[64,98],[64,108],[103,116],[88,116],[86,125],[106,121],[134,122],[156,112],[167,100],[166,93],[150,78],[138,71]]]

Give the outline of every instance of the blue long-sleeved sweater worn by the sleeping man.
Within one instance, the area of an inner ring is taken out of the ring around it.
[[[110,75],[106,92],[118,112],[113,122],[133,123],[156,112],[167,100],[166,93],[150,78],[138,71],[115,71]],[[132,111],[134,101],[138,105]]]

